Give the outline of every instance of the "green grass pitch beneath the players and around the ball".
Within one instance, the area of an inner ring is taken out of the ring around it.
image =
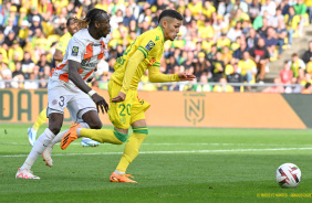
[[[290,196],[312,191],[311,130],[149,128],[127,171],[138,183],[125,184],[108,181],[124,146],[82,148],[80,140],[64,151],[54,147],[53,168],[37,160],[32,170],[41,180],[17,180],[31,150],[28,127],[0,126],[0,202],[312,201]],[[285,162],[301,169],[297,189],[275,182],[275,170]]]

